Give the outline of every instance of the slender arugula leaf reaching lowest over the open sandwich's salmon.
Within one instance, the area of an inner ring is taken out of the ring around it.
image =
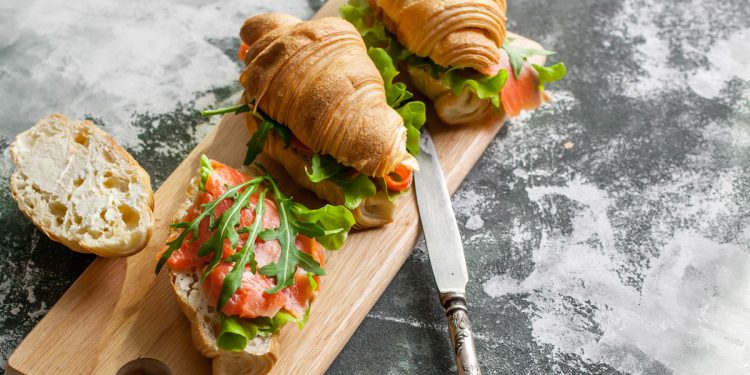
[[[250,189],[248,188],[246,189],[246,191],[247,190]],[[240,287],[240,284],[242,283],[242,274],[245,273],[245,266],[248,262],[250,263],[250,271],[253,273],[255,273],[256,271],[255,268],[257,263],[255,262],[255,239],[258,238],[258,234],[263,229],[263,213],[266,209],[265,197],[266,191],[263,190],[258,195],[258,204],[255,205],[255,220],[252,224],[250,224],[249,227],[246,227],[246,231],[248,233],[247,239],[245,240],[242,249],[232,255],[233,257],[236,256],[236,259],[233,259],[233,261],[235,262],[234,266],[224,278],[224,283],[221,287],[219,301],[216,303],[216,309],[219,311],[221,311],[224,305],[229,301],[234,292],[237,291],[237,288]]]

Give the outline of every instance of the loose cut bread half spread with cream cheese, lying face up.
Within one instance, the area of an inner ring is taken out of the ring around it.
[[[50,239],[104,257],[146,246],[154,224],[151,179],[91,121],[45,117],[16,137],[10,155],[13,198]]]

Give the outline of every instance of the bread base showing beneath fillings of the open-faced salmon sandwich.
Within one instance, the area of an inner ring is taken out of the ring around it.
[[[197,178],[187,188],[187,200],[182,204],[173,223],[183,221],[198,195]],[[170,238],[176,236],[172,229]],[[216,335],[221,328],[216,309],[208,304],[208,298],[200,286],[200,275],[195,272],[169,270],[172,285],[180,309],[190,320],[193,345],[204,356],[211,358],[214,375],[259,375],[266,374],[278,360],[279,345],[276,335],[256,337],[242,352],[228,352],[216,345]]]

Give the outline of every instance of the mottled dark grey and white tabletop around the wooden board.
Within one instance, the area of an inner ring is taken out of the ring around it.
[[[13,137],[52,112],[91,118],[156,188],[211,126],[196,110],[237,98],[240,22],[315,5],[0,5],[0,363],[92,261],[17,210]],[[454,197],[484,373],[750,373],[747,1],[510,1],[509,16],[569,74]],[[420,245],[329,372],[454,369]]]

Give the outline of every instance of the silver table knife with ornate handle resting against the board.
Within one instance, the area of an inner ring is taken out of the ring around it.
[[[448,317],[456,368],[459,375],[479,375],[479,361],[474,348],[466,306],[466,259],[448,187],[440,169],[440,159],[426,128],[419,138],[417,155],[419,171],[414,172],[419,216],[422,220],[432,273],[440,291],[440,303]]]

